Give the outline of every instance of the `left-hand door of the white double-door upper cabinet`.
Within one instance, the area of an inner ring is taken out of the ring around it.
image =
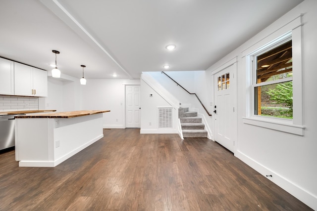
[[[14,62],[14,95],[32,96],[32,67]]]

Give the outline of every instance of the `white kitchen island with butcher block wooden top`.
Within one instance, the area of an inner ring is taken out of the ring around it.
[[[87,110],[15,117],[15,160],[19,167],[55,167],[98,141],[103,113]]]

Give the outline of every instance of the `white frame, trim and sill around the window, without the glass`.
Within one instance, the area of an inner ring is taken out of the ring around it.
[[[247,110],[246,116],[243,118],[243,123],[297,135],[304,135],[302,25],[301,15],[242,52],[243,54],[245,53],[247,70]],[[293,77],[257,84],[256,62],[253,62],[255,61],[255,58],[289,40],[292,40]],[[281,83],[282,81],[293,82],[293,119],[255,115],[255,87],[269,83]]]

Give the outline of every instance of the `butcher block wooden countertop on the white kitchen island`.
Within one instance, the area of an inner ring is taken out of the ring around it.
[[[73,118],[73,117],[81,117],[81,116],[87,116],[92,114],[100,114],[105,112],[109,112],[109,111],[106,111],[106,110],[68,111],[68,112],[59,112],[59,113],[16,116],[14,118]]]

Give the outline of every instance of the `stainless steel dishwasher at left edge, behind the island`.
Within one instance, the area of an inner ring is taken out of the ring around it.
[[[0,116],[0,150],[15,145],[14,116],[19,115]]]

